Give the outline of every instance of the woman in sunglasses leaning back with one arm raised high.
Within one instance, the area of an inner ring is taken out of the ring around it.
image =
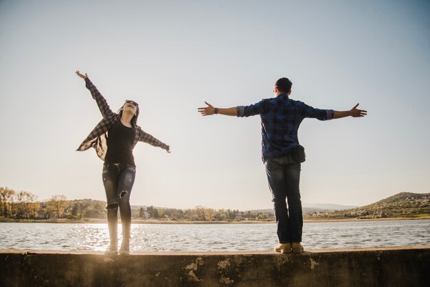
[[[152,146],[158,146],[170,153],[170,146],[162,143],[152,135],[145,133],[137,126],[139,105],[126,100],[118,113],[113,113],[98,89],[79,71],[76,74],[85,80],[86,87],[98,104],[103,119],[91,131],[78,150],[94,148],[98,157],[104,161],[103,185],[107,200],[107,220],[111,244],[105,254],[114,255],[118,251],[118,207],[120,207],[122,223],[122,243],[120,254],[130,253],[131,207],[130,194],[135,181],[136,165],[133,148],[137,141],[144,141]]]

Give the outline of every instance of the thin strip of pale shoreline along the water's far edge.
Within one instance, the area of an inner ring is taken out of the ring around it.
[[[387,221],[387,220],[429,220],[430,216],[422,216],[419,218],[333,218],[333,219],[307,219],[303,222],[357,222],[357,221]],[[14,219],[0,218],[1,222],[16,222],[16,223],[81,223],[81,224],[105,224],[106,218],[86,218],[84,220],[68,220],[65,218],[49,218],[49,219]],[[120,222],[120,220],[118,220]],[[238,220],[238,221],[188,221],[188,220],[131,220],[131,224],[135,225],[216,225],[216,224],[256,224],[256,223],[275,223],[275,220]]]

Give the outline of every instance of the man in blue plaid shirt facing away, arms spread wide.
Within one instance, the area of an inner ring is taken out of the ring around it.
[[[280,244],[275,251],[280,253],[302,253],[302,201],[300,200],[299,181],[304,149],[299,146],[297,131],[306,117],[321,121],[341,117],[364,117],[367,111],[333,111],[313,108],[296,100],[291,100],[291,81],[280,78],[275,83],[275,97],[264,99],[250,106],[214,108],[207,104],[198,111],[202,115],[231,115],[249,117],[260,115],[262,125],[262,160],[266,166],[269,188],[272,193],[273,207],[278,228]],[[288,207],[286,205],[288,202]]]

